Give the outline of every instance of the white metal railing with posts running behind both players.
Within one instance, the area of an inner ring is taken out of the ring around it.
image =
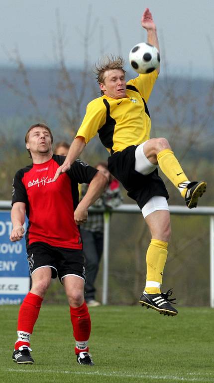
[[[0,209],[11,209],[11,201],[0,201]],[[188,209],[185,206],[169,206],[171,214],[179,215],[209,215],[210,216],[210,305],[214,308],[214,207],[200,206],[194,209]],[[108,298],[108,249],[109,249],[109,224],[110,214],[115,213],[140,213],[139,207],[135,204],[121,204],[110,211],[104,211],[101,208],[90,207],[91,213],[104,212],[104,251],[103,251],[103,295],[102,303],[107,305]]]

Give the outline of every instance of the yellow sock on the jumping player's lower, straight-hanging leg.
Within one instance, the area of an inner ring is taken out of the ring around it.
[[[168,242],[152,239],[146,253],[146,287],[148,294],[160,293],[163,270],[167,259]]]

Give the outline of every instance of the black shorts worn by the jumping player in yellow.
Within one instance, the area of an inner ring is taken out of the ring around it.
[[[127,190],[127,195],[142,209],[151,197],[160,195],[168,199],[169,194],[163,180],[158,176],[157,169],[147,176],[134,170],[136,148],[137,145],[132,145],[108,157],[108,170],[121,182]]]

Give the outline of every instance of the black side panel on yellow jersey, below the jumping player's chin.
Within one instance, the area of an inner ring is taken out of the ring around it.
[[[102,144],[110,149],[110,154],[113,154],[113,133],[116,125],[116,121],[110,116],[110,105],[107,100],[104,98],[103,102],[107,108],[107,116],[105,124],[99,129],[98,134]]]

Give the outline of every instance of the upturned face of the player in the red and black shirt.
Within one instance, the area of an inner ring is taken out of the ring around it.
[[[48,154],[52,150],[51,136],[48,130],[41,127],[33,128],[29,132],[26,148],[32,154]]]

